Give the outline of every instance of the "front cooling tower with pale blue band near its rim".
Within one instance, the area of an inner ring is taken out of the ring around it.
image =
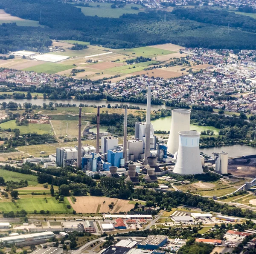
[[[173,173],[202,174],[199,152],[200,133],[198,131],[180,131],[179,149]]]

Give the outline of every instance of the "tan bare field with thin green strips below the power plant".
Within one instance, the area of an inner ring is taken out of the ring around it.
[[[118,209],[118,211],[115,211],[116,213],[119,213],[119,211],[127,212],[134,208],[134,204],[129,204],[129,200],[120,200],[110,197],[76,197],[76,200],[77,201],[75,204],[73,204],[72,202],[70,202],[70,204],[72,205],[73,209],[76,210],[76,212],[81,213],[95,214],[97,212],[98,205],[100,205],[98,211],[99,213],[111,212],[108,207],[111,202],[114,203],[112,213],[117,207],[120,208]],[[104,201],[105,203],[103,203]]]

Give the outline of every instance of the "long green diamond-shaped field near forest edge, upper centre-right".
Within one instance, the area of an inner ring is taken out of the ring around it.
[[[140,48],[134,48],[134,49],[116,49],[113,50],[113,52],[119,53],[119,54],[126,54],[131,55],[133,57],[156,57],[157,55],[166,55],[166,54],[172,54],[176,53],[176,51],[169,51],[165,49],[157,49],[153,47],[140,47]],[[135,53],[135,54],[133,54]]]

